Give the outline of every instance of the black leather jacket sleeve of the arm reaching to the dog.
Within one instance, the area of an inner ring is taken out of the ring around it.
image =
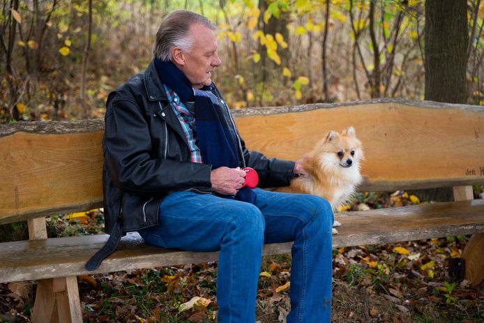
[[[293,176],[294,161],[266,158],[258,151],[249,151],[242,139],[241,144],[245,164],[252,167],[259,175],[259,187],[289,186]]]

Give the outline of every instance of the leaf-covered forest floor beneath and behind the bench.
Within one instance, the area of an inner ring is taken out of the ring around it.
[[[402,191],[365,193],[354,207],[418,202]],[[59,236],[95,234],[102,232],[102,223],[103,213],[91,211],[52,216],[48,229]],[[467,280],[448,276],[448,260],[460,257],[468,239],[449,236],[333,250],[331,322],[484,322],[484,283],[470,287]],[[264,257],[257,322],[285,322],[290,266],[290,255]],[[213,262],[79,276],[84,322],[216,322],[216,272]],[[35,287],[35,282],[0,284],[1,323],[30,322]]]

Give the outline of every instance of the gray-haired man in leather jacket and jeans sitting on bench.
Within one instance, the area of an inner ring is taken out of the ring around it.
[[[136,230],[155,246],[220,251],[218,321],[247,323],[255,322],[263,244],[294,241],[287,322],[329,322],[331,206],[261,189],[305,172],[301,161],[245,147],[211,80],[222,63],[214,31],[202,15],[169,13],[151,64],[109,94],[105,224],[115,238],[108,245]],[[257,172],[259,188],[243,187],[243,167]]]

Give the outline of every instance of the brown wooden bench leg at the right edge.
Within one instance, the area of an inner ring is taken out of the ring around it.
[[[465,279],[477,286],[484,279],[484,233],[473,234],[462,252],[465,260]]]

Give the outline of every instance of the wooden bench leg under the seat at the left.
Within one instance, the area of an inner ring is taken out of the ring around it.
[[[32,322],[82,322],[76,276],[38,280]]]

